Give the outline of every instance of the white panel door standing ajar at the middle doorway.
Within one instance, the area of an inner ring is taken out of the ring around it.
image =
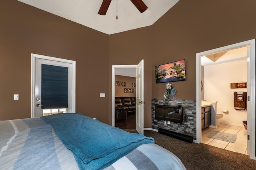
[[[144,134],[144,60],[136,66],[136,131]]]

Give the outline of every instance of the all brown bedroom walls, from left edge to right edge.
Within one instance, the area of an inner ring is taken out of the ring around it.
[[[166,88],[155,83],[154,66],[185,59],[186,81],[172,83],[175,97],[195,100],[196,53],[255,39],[255,6],[254,0],[180,0],[152,26],[106,35],[16,0],[0,1],[0,120],[30,117],[36,53],[75,60],[76,111],[109,124],[112,65],[144,59],[144,127],[150,128],[151,99],[163,98]]]

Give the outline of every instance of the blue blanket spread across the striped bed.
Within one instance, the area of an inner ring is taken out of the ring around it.
[[[41,117],[72,150],[80,169],[103,169],[153,138],[128,133],[78,113]]]

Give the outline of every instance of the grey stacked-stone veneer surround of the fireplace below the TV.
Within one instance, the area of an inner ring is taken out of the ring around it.
[[[155,105],[170,105],[178,106],[181,105],[185,112],[184,122],[174,123],[170,122],[170,125],[164,124],[162,120],[155,119]],[[196,100],[180,100],[174,99],[171,101],[166,101],[164,99],[152,99],[151,104],[152,111],[152,129],[158,130],[159,128],[174,131],[176,133],[181,133],[184,135],[192,136],[196,140]]]

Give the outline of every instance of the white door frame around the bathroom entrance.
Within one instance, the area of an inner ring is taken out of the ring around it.
[[[209,54],[219,53],[222,51],[227,51],[231,49],[236,49],[240,47],[250,47],[250,57],[247,58],[250,64],[250,84],[247,84],[247,88],[250,88],[250,107],[248,108],[250,114],[248,132],[250,135],[250,158],[256,160],[255,157],[255,39],[244,41],[241,43],[236,43],[228,45],[225,47],[220,47],[217,49],[212,49],[204,51],[201,53],[196,53],[196,143],[201,143],[202,141],[202,124],[201,124],[201,57]],[[247,68],[248,69],[248,68]]]

